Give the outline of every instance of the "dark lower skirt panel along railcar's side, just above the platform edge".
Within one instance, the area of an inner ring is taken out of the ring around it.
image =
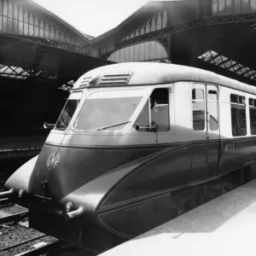
[[[243,171],[243,172],[242,172]],[[164,224],[256,177],[256,166],[248,166],[204,183],[170,190],[139,201],[108,207],[98,212],[102,225],[128,239]]]

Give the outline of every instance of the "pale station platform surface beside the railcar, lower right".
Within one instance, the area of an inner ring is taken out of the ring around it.
[[[100,255],[255,253],[256,179]]]

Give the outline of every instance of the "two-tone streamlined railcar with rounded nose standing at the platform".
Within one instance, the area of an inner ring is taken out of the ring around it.
[[[101,252],[183,212],[178,189],[251,172],[255,160],[253,86],[193,67],[120,63],[75,83],[41,153],[1,196],[28,205],[32,228]]]

